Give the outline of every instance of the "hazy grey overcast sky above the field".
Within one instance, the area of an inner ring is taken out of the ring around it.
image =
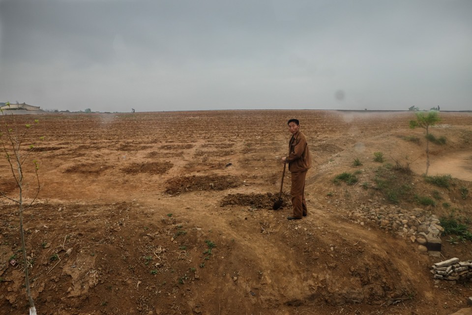
[[[471,0],[0,0],[0,102],[472,110]]]

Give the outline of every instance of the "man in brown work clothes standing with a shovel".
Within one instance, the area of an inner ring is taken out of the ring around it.
[[[283,157],[282,161],[289,163],[289,171],[292,175],[290,194],[294,208],[293,216],[287,217],[287,220],[298,220],[308,214],[305,202],[305,178],[311,166],[311,155],[305,135],[299,130],[298,119],[289,120],[287,125],[289,125],[292,138],[289,142],[289,155]]]

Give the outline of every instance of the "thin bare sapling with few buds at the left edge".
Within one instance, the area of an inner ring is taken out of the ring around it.
[[[9,102],[5,103],[6,106],[9,106],[9,104]],[[24,162],[29,160],[34,147],[31,144],[29,145],[29,147],[25,148],[24,142],[27,140],[27,134],[32,126],[30,124],[26,124],[23,126],[24,129],[22,127],[22,129],[20,130],[20,127],[18,126],[13,113],[7,114],[6,111],[1,110],[0,115],[1,151],[5,155],[5,158],[8,162],[6,164],[6,167],[9,168],[11,172],[11,180],[15,183],[15,186],[17,188],[15,192],[6,192],[1,190],[0,188],[0,195],[16,203],[19,208],[21,249],[23,252],[25,286],[26,294],[29,301],[29,314],[36,315],[36,308],[34,306],[34,301],[31,295],[31,289],[29,285],[29,263],[25,244],[25,232],[23,229],[23,214],[36,200],[40,189],[38,163],[36,160],[31,160],[32,167],[34,169],[34,181],[36,182],[37,186],[34,186],[35,189],[33,191],[33,197],[29,200],[29,202],[25,201],[25,194],[28,190],[28,185],[24,177],[26,174],[24,169]],[[37,120],[35,120],[34,122],[36,124],[38,123]]]

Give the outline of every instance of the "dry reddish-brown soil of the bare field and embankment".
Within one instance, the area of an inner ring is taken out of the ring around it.
[[[471,259],[471,242],[442,237],[442,256],[408,238],[359,224],[349,211],[392,202],[374,189],[376,170],[410,164],[413,193],[436,194],[438,217],[472,218],[472,113],[441,112],[431,132],[425,183],[423,129],[412,112],[195,111],[15,116],[33,125],[25,147],[24,213],[31,290],[38,314],[449,315],[467,307],[471,283],[432,279],[433,263]],[[308,216],[291,215],[290,173],[278,197],[290,133],[300,120],[314,156]],[[44,136],[44,140],[39,140]],[[385,161],[374,161],[382,152]],[[354,167],[357,158],[361,166]],[[0,190],[18,195],[0,162]],[[335,184],[357,172],[357,185]],[[370,185],[361,185],[368,183]],[[442,204],[447,203],[447,207]],[[422,207],[405,196],[396,206]],[[0,314],[27,314],[18,206],[0,198]],[[16,264],[13,265],[11,260]]]

